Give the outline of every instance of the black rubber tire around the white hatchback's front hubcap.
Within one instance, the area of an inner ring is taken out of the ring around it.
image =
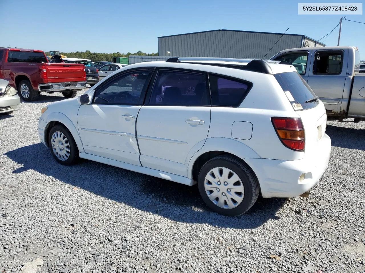
[[[52,135],[54,134],[54,132],[57,132],[57,131],[64,134],[66,139],[68,140],[70,153],[69,153],[69,157],[66,160],[59,159],[53,151]],[[51,130],[49,131],[49,135],[48,135],[48,145],[49,145],[49,149],[51,150],[51,154],[52,154],[53,158],[62,165],[66,165],[66,166],[73,165],[79,159],[79,156],[78,156],[79,151],[78,151],[76,142],[75,142],[74,138],[72,137],[72,134],[70,133],[70,131],[63,125],[56,125],[51,128]]]

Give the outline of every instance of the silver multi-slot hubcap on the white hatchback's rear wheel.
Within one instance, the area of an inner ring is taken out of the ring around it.
[[[216,167],[208,171],[205,175],[204,189],[209,199],[223,209],[237,207],[245,195],[239,176],[226,167]]]

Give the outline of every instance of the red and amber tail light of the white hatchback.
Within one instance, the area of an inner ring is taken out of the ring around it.
[[[271,118],[271,121],[284,146],[294,151],[304,151],[306,141],[300,118]]]

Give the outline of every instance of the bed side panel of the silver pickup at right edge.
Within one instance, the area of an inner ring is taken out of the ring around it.
[[[365,118],[365,74],[356,73],[353,81],[347,117],[363,116]]]

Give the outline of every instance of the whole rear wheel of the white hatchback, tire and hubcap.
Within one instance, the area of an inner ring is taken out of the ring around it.
[[[208,207],[227,216],[245,213],[260,192],[254,173],[243,162],[226,155],[204,164],[199,172],[198,187]]]

